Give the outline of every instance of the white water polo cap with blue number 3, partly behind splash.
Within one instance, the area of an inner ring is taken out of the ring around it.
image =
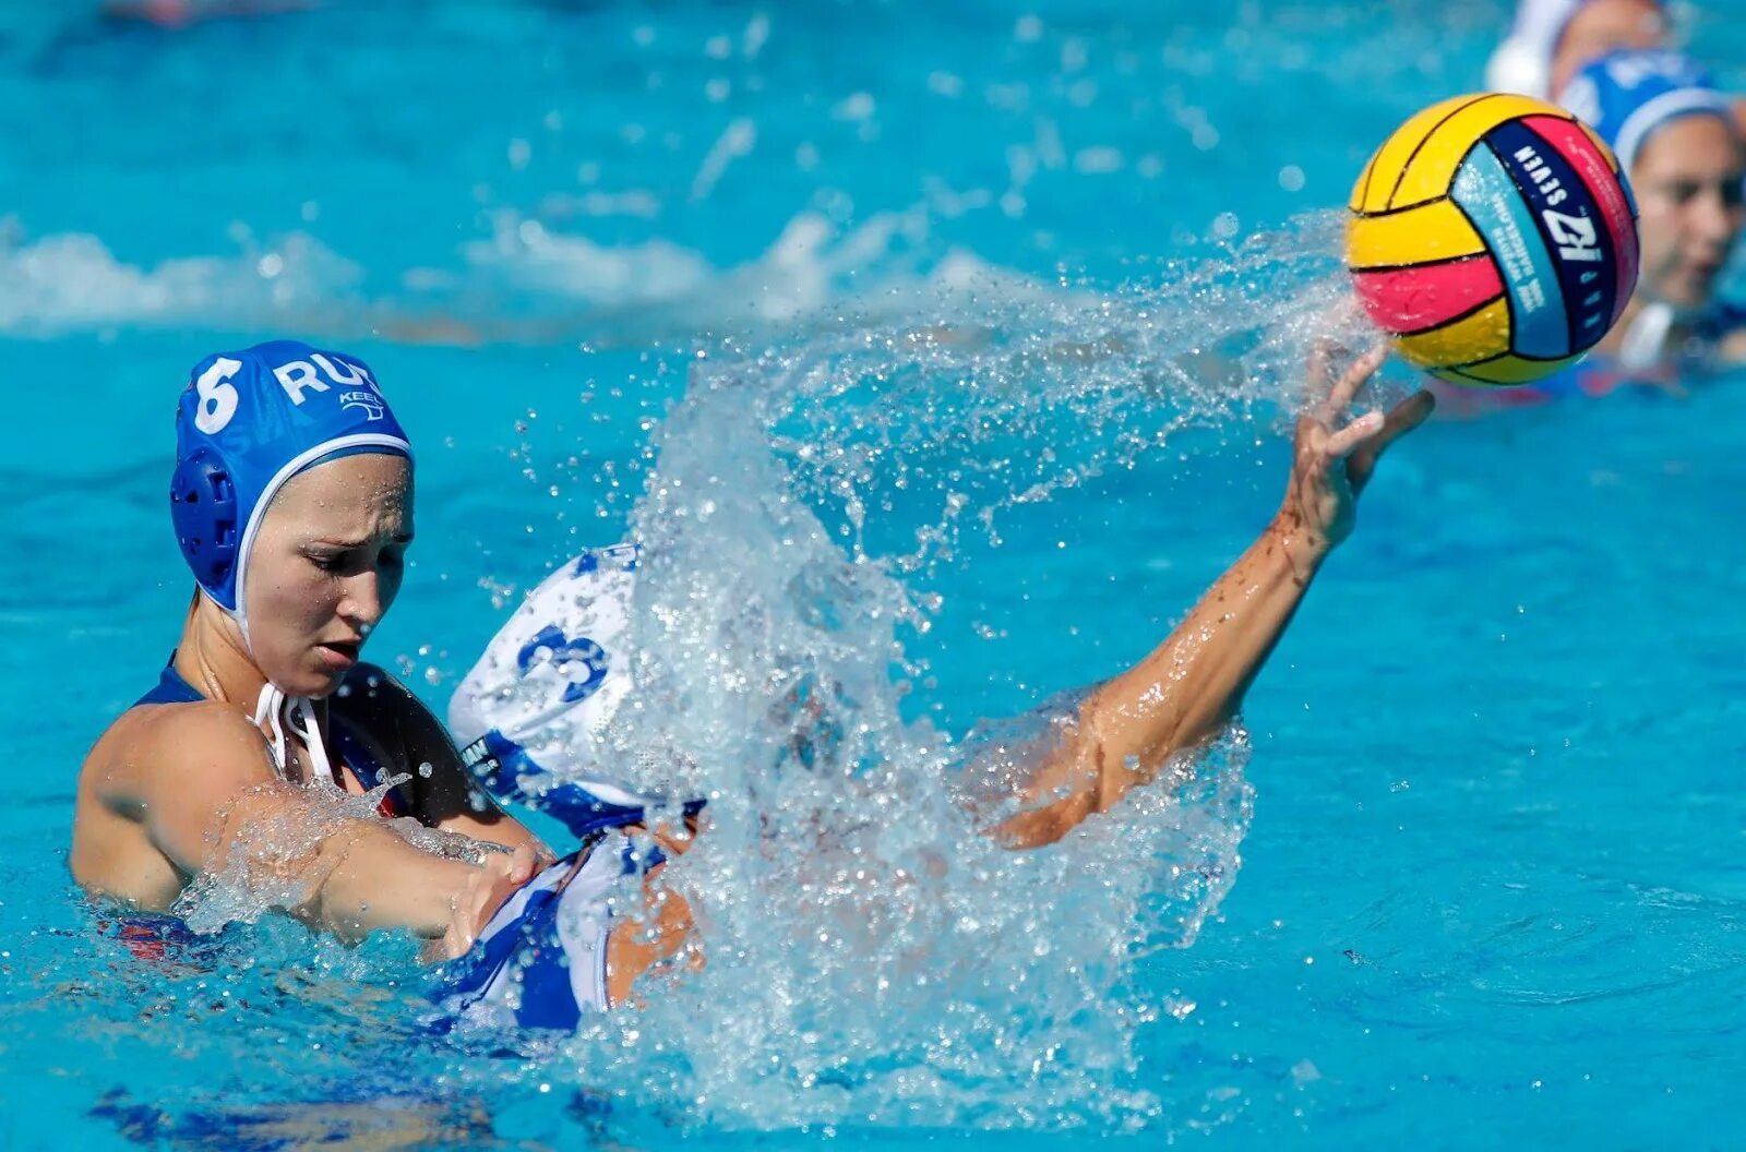
[[[613,714],[632,691],[636,569],[636,545],[564,564],[515,609],[449,700],[468,773],[576,836],[665,803],[601,768]]]

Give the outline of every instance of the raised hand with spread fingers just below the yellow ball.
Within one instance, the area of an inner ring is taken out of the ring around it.
[[[1395,440],[1425,422],[1437,401],[1428,391],[1402,400],[1385,415],[1365,412],[1337,428],[1358,391],[1388,358],[1374,347],[1334,377],[1334,347],[1320,342],[1310,356],[1311,407],[1297,421],[1292,478],[1280,508],[1282,527],[1294,538],[1294,562],[1320,559],[1351,536],[1357,501],[1376,471],[1376,461]]]

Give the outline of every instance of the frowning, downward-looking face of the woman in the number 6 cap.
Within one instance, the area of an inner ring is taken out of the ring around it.
[[[412,464],[342,456],[274,496],[248,557],[257,667],[293,696],[325,696],[400,592],[412,543]]]

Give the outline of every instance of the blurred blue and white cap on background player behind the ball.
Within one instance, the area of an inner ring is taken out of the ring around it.
[[[1629,175],[1655,129],[1687,115],[1732,124],[1729,99],[1702,65],[1681,52],[1613,52],[1571,77],[1559,103],[1589,122]]]

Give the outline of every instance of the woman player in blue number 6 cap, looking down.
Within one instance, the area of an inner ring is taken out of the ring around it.
[[[538,845],[477,805],[435,717],[360,662],[412,543],[412,447],[375,375],[292,342],[208,356],[176,408],[169,501],[197,592],[159,684],[86,761],[73,876],[168,909],[203,871],[265,867],[251,880],[340,936],[471,943]],[[506,852],[445,859],[344,819],[342,794],[372,789],[384,813]]]

